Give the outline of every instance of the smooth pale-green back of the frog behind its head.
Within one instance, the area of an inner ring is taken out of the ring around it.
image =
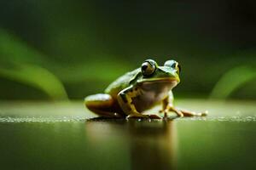
[[[140,69],[136,69],[134,71],[127,72],[125,75],[113,81],[108,85],[108,88],[105,89],[105,94],[110,94],[111,96],[115,97],[121,90],[130,86],[131,80],[137,76],[139,71]]]

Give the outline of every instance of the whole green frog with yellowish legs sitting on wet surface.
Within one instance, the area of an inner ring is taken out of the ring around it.
[[[181,66],[174,59],[166,60],[164,65],[158,65],[154,59],[146,59],[139,68],[110,83],[104,94],[87,96],[84,105],[96,115],[106,118],[163,119],[170,112],[176,113],[177,117],[207,116],[206,111],[186,111],[173,105],[172,89],[180,82],[180,73]],[[143,113],[155,105],[162,105],[159,112]]]

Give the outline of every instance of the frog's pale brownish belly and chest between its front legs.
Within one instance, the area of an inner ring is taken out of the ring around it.
[[[165,99],[169,91],[169,88],[161,89],[160,91],[143,91],[141,95],[132,99],[132,103],[135,105],[137,111],[146,111]]]

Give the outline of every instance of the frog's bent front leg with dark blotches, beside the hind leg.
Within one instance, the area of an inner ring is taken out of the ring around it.
[[[160,119],[160,116],[157,115],[143,115],[142,113],[139,113],[135,107],[135,105],[132,103],[132,98],[137,97],[139,94],[137,88],[129,87],[125,88],[118,94],[118,101],[119,105],[122,108],[122,110],[127,115],[126,118],[156,118]]]

